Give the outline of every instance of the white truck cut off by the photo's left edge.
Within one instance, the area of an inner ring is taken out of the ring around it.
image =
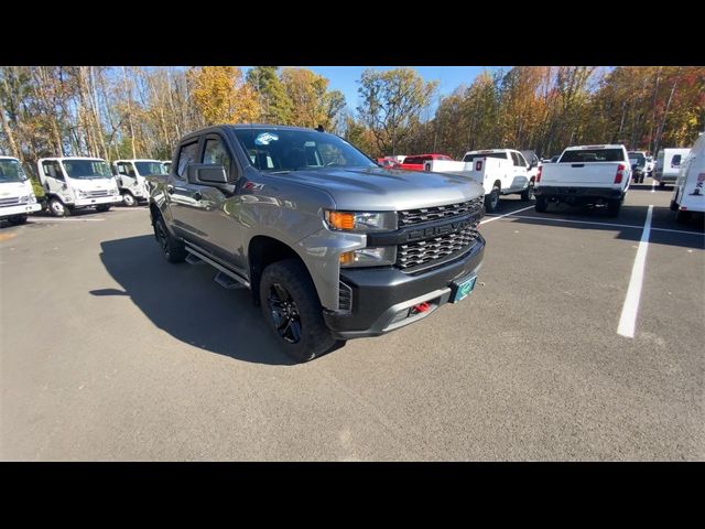
[[[20,161],[0,156],[0,219],[14,225],[24,224],[30,213],[41,208]]]

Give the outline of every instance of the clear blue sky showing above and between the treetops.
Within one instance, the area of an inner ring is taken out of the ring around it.
[[[323,75],[330,80],[328,85],[332,90],[340,90],[345,95],[345,101],[348,108],[355,111],[358,106],[357,89],[359,84],[356,83],[362,72],[369,67],[377,71],[392,69],[398,66],[303,66],[315,73]],[[243,66],[242,71],[247,72],[249,67]],[[424,80],[438,80],[438,93],[447,96],[455,90],[458,85],[465,83],[469,85],[475,77],[482,73],[484,69],[494,71],[496,66],[413,66],[421,74]],[[434,101],[435,108],[437,101]]]

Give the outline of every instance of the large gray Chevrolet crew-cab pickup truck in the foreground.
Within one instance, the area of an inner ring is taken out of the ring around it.
[[[169,175],[148,180],[166,259],[249,288],[297,361],[460,301],[482,260],[482,187],[382,169],[318,130],[203,129],[181,140]]]

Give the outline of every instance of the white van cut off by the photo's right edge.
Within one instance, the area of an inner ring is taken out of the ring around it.
[[[705,212],[705,133],[701,133],[681,164],[671,209],[679,212],[675,217],[679,223],[687,222],[693,212]]]

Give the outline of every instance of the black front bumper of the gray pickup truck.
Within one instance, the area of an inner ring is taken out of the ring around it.
[[[340,281],[351,290],[349,314],[324,312],[333,334],[341,339],[379,336],[435,312],[451,296],[451,283],[479,270],[485,252],[485,239],[475,240],[470,249],[457,259],[427,272],[404,273],[395,268],[343,269]],[[412,306],[429,302],[430,310],[408,315]]]

